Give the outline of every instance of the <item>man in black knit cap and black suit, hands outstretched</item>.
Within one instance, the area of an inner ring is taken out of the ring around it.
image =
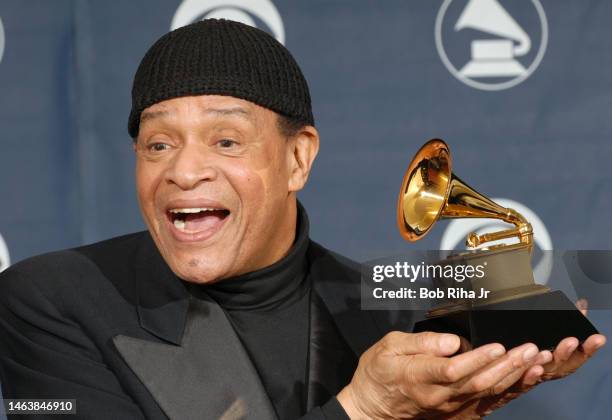
[[[358,268],[308,238],[296,193],[319,135],[299,67],[264,32],[163,36],[132,100],[148,231],[2,274],[6,398],[76,399],[86,419],[475,418],[604,344],[457,354],[454,335],[385,335],[359,309]]]

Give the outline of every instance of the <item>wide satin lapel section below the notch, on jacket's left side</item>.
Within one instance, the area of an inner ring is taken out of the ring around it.
[[[180,346],[118,335],[114,344],[171,420],[275,419],[223,310],[190,299]]]

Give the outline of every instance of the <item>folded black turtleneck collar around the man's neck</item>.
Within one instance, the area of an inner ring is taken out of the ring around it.
[[[228,311],[269,310],[292,304],[308,291],[306,251],[308,216],[297,203],[296,237],[293,246],[276,263],[211,285],[187,284],[194,295],[205,293]]]

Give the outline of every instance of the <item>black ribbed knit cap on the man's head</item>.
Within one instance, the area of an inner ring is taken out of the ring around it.
[[[308,84],[291,53],[266,32],[225,19],[206,19],[162,36],[138,66],[128,132],[141,112],[166,99],[194,95],[246,99],[314,125]]]

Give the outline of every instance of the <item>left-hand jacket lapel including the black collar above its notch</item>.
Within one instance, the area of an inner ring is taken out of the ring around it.
[[[275,419],[272,404],[223,310],[192,298],[150,235],[132,261],[140,326],[117,335],[122,358],[171,420]],[[146,338],[145,338],[146,337]]]

